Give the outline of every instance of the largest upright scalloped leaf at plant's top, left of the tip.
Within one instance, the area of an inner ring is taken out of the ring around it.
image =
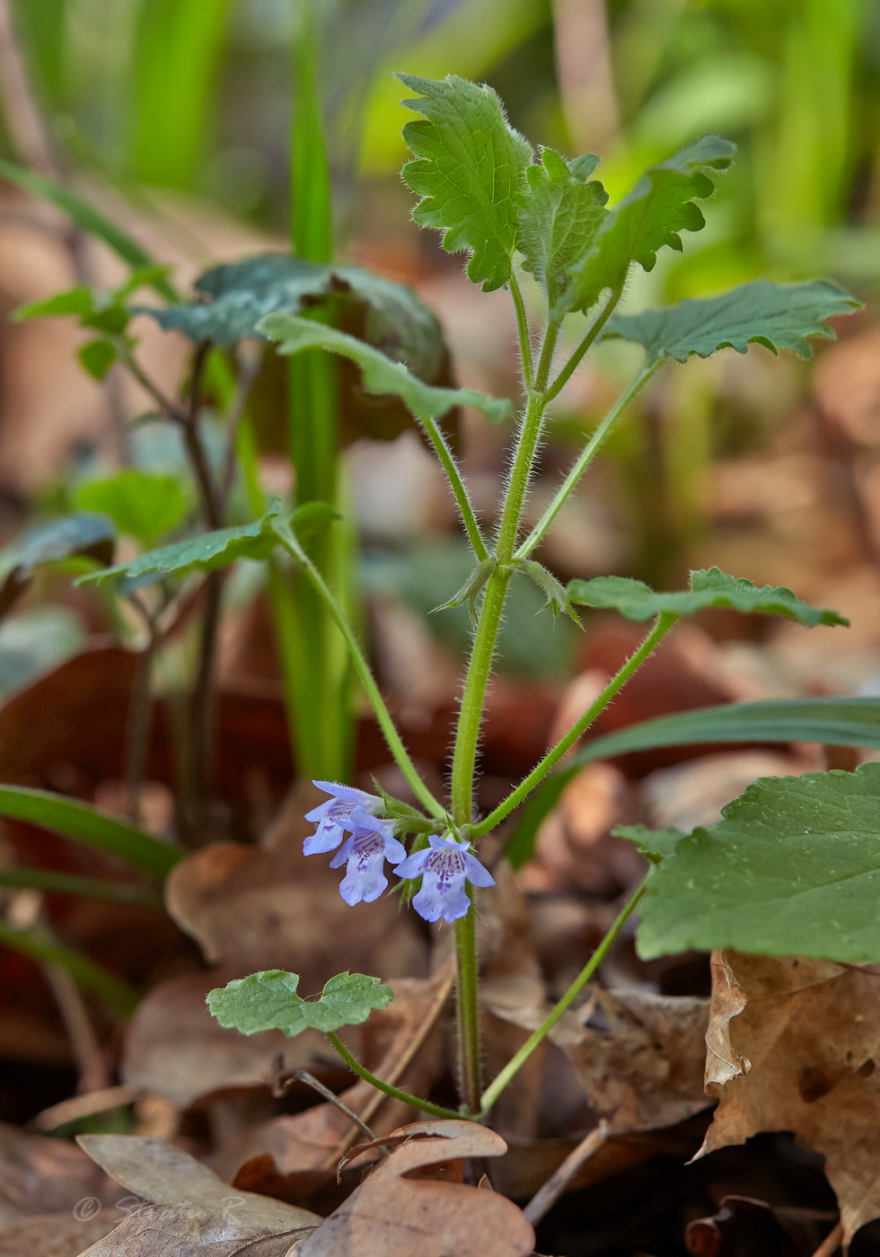
[[[412,217],[444,231],[444,249],[470,253],[468,275],[484,292],[500,288],[510,278],[532,146],[509,126],[490,87],[454,74],[397,77],[419,93],[404,106],[422,114],[404,127],[417,160],[402,176],[421,196]]]

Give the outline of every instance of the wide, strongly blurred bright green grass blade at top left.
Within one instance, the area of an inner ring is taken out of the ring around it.
[[[231,0],[142,0],[129,70],[133,178],[196,184],[231,10]]]

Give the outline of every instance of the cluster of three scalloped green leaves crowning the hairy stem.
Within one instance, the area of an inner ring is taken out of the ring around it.
[[[510,279],[515,251],[561,312],[588,309],[605,288],[622,287],[631,263],[651,270],[657,250],[681,248],[680,231],[704,225],[696,200],[710,196],[707,171],[723,171],[735,148],[705,136],[649,170],[615,210],[591,181],[598,157],[566,161],[552,148],[533,162],[485,85],[401,74],[422,114],[404,128],[416,160],[404,178],[422,200],[414,219],[443,230],[444,248],[470,253],[468,274],[485,290]]]

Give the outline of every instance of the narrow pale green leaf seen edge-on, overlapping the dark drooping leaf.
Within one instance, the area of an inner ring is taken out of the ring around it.
[[[471,388],[437,388],[422,383],[402,362],[392,362],[378,349],[363,341],[338,332],[334,327],[297,318],[294,314],[269,314],[260,323],[260,332],[270,341],[279,341],[279,353],[299,353],[302,349],[328,349],[351,358],[363,372],[363,385],[371,393],[392,393],[417,419],[437,419],[453,406],[475,406],[498,421],[508,414],[510,403],[498,397],[474,392]]]

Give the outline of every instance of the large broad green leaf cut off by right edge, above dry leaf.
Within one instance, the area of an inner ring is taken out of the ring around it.
[[[733,948],[880,960],[880,764],[763,777],[723,816],[655,871],[640,955]]]

